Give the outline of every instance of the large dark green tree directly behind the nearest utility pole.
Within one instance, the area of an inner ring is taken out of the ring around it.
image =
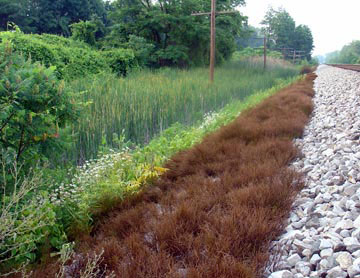
[[[160,66],[206,64],[209,56],[210,24],[207,17],[191,16],[193,11],[209,11],[207,0],[117,0],[110,9],[113,25],[106,41],[108,46],[127,43],[130,35],[154,45],[152,60]],[[231,9],[244,0],[218,1],[217,8]],[[217,23],[218,62],[235,49],[234,37],[245,17],[221,15]]]

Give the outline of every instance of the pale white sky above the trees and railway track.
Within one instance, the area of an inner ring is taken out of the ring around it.
[[[314,37],[313,55],[340,50],[360,40],[360,0],[246,0],[239,10],[249,24],[260,27],[268,7],[283,7],[296,25],[308,25]]]

